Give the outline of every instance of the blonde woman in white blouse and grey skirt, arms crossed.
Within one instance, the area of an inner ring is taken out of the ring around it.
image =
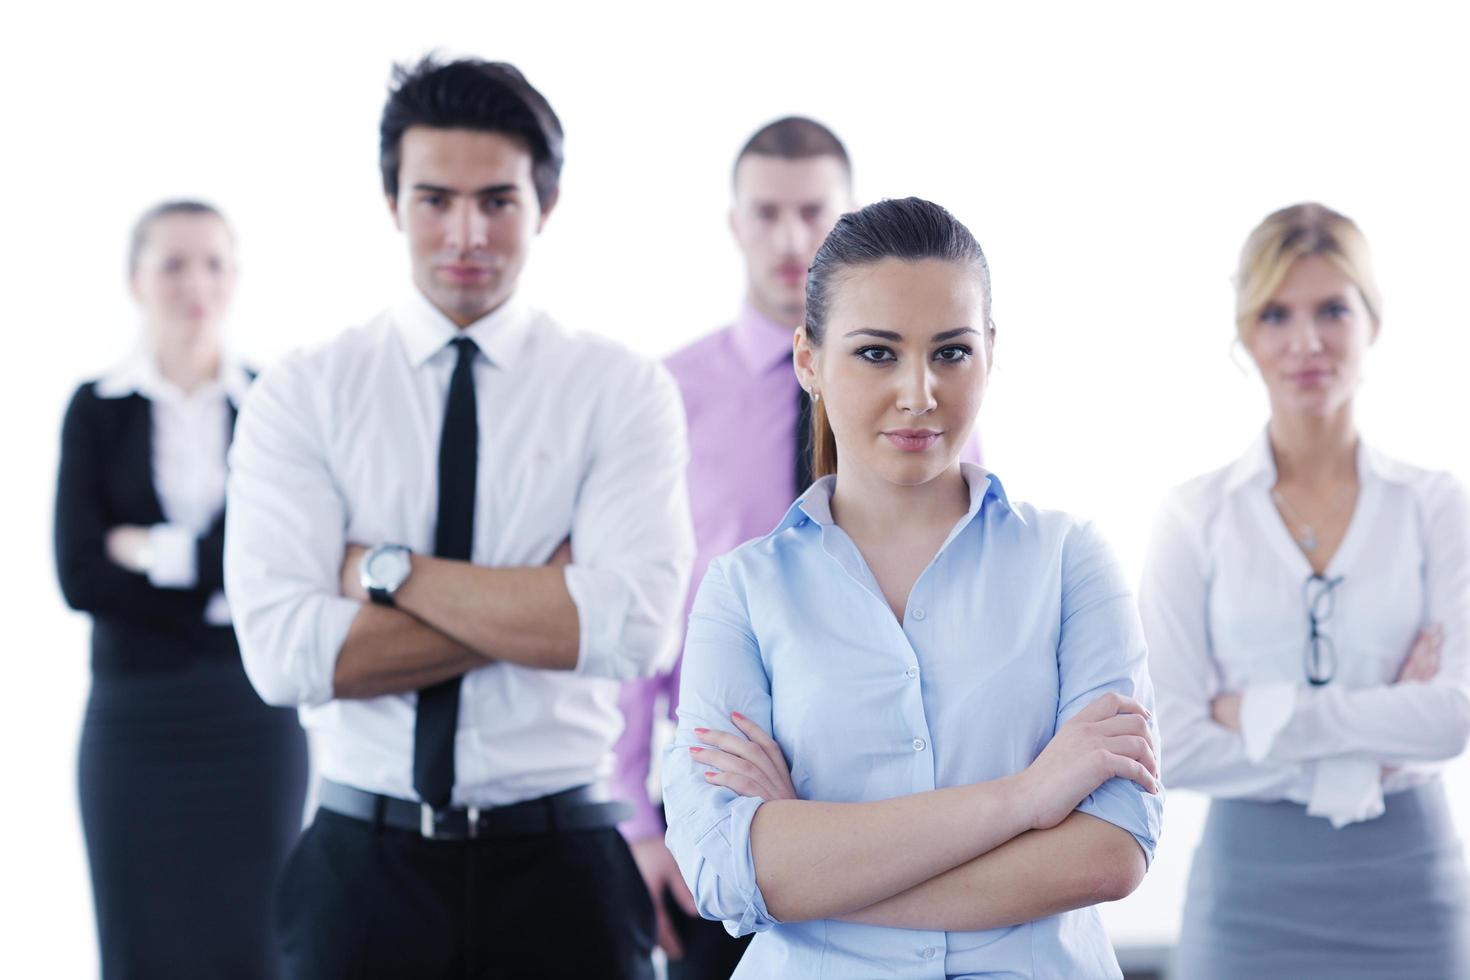
[[[1349,219],[1261,222],[1236,332],[1270,419],[1158,519],[1141,605],[1164,779],[1214,798],[1180,977],[1470,976],[1439,782],[1470,733],[1470,510],[1357,430],[1382,311]]]

